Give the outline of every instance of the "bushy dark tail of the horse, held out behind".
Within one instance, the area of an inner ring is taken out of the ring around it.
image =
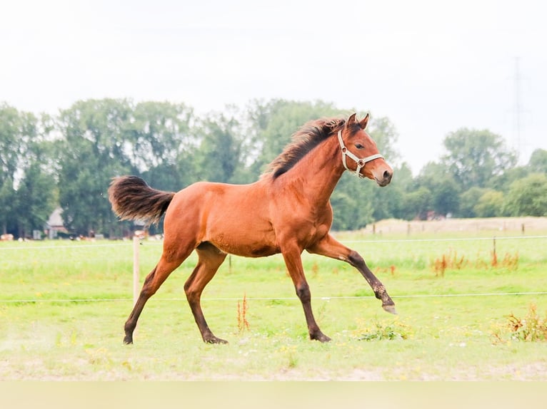
[[[114,177],[109,187],[112,210],[122,220],[159,222],[173,200],[174,192],[152,189],[140,177]]]

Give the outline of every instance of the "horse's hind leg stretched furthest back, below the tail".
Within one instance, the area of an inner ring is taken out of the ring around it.
[[[192,250],[190,249],[184,254],[181,254],[179,257],[174,259],[166,259],[165,253],[161,254],[161,259],[159,263],[154,267],[146,279],[141,289],[141,294],[139,294],[139,299],[137,299],[133,311],[127,319],[124,329],[125,329],[125,338],[124,343],[133,343],[133,332],[135,331],[136,323],[139,320],[142,310],[144,309],[144,304],[149,300],[151,296],[156,294],[161,284],[167,279],[169,274],[174,271],[178,266],[184,262],[184,259],[190,255]]]

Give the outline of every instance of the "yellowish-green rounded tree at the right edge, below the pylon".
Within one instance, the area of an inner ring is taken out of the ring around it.
[[[547,175],[532,173],[513,182],[503,208],[510,216],[547,216]]]

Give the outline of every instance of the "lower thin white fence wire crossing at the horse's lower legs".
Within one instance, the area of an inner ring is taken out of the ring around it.
[[[469,294],[403,294],[391,296],[393,299],[411,298],[448,298],[448,297],[485,297],[485,296],[535,296],[547,295],[547,291],[521,291],[515,293],[469,293]],[[241,301],[241,297],[216,297],[203,298],[201,301]],[[375,296],[323,296],[316,297],[322,301],[344,300],[344,299],[376,299]],[[185,298],[155,298],[155,301],[186,301]],[[246,297],[247,301],[298,301],[296,296],[292,297]],[[76,303],[76,302],[127,302],[125,299],[27,299],[27,300],[0,300],[0,304],[33,304],[33,303]]]

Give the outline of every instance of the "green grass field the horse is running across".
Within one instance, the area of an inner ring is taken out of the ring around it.
[[[202,302],[225,346],[201,341],[184,297],[194,255],[124,346],[131,243],[1,243],[0,380],[547,380],[547,342],[519,339],[532,309],[538,328],[547,325],[547,239],[496,235],[494,260],[492,232],[338,234],[381,279],[398,316],[382,311],[351,266],[304,254],[327,344],[308,340],[281,257],[232,257]],[[139,249],[144,279],[161,244]],[[520,333],[511,314],[528,316]]]

